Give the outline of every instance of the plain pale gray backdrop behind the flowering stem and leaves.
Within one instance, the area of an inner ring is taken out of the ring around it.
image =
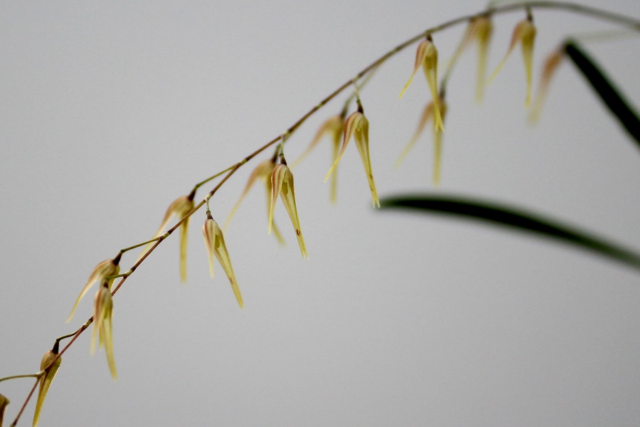
[[[483,6],[2,1],[0,376],[36,371],[53,339],[90,316],[95,290],[65,324],[94,265],[153,236],[195,182],[281,133],[400,41]],[[607,8],[640,16],[637,1]],[[495,19],[489,72],[522,16]],[[565,35],[612,28],[565,12],[535,12],[535,23],[535,82]],[[441,63],[463,30],[434,36]],[[588,49],[639,105],[638,38]],[[430,99],[418,75],[398,101],[414,53],[390,60],[362,94],[381,196],[485,196],[640,247],[638,149],[568,62],[532,128],[519,51],[476,105],[469,50],[447,95],[442,186],[430,182],[429,132],[394,170]],[[343,99],[294,135],[289,161]],[[208,278],[199,212],[188,284],[174,236],[114,299],[119,380],[103,352],[89,356],[83,334],[63,357],[41,426],[640,424],[635,271],[476,223],[373,211],[354,146],[331,206],[322,182],[330,164],[325,141],[294,169],[309,260],[282,204],[276,220],[288,244],[267,236],[265,195],[253,189],[225,236],[245,297],[239,310],[219,266]],[[251,169],[213,199],[221,223]],[[6,418],[30,387],[1,384],[12,401]]]

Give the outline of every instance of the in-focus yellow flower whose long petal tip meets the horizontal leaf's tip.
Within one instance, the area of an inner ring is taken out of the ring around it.
[[[369,121],[367,120],[367,117],[365,117],[362,110],[362,105],[359,101],[358,111],[351,113],[351,115],[345,122],[342,138],[342,149],[340,150],[338,157],[336,157],[336,161],[331,166],[331,169],[329,169],[329,172],[326,173],[324,181],[326,182],[326,180],[329,179],[331,173],[334,172],[334,169],[336,169],[336,167],[338,166],[338,162],[340,162],[340,159],[342,158],[344,150],[351,140],[351,137],[356,140],[356,147],[358,148],[358,153],[360,153],[360,158],[362,159],[362,164],[367,174],[369,189],[371,191],[371,197],[373,199],[373,206],[378,205],[378,207],[380,207],[378,191],[375,190],[373,172],[371,172],[371,159],[369,157]]]

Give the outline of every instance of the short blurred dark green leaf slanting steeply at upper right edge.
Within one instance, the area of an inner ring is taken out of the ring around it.
[[[577,46],[575,41],[567,41],[565,52],[571,58],[575,66],[589,80],[592,88],[602,99],[609,110],[618,118],[626,132],[636,140],[640,148],[640,119],[624,99],[622,93],[616,88],[606,74],[602,72],[597,63]]]

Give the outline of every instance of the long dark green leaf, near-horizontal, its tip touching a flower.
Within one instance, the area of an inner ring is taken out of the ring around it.
[[[466,218],[488,221],[498,226],[518,228],[570,243],[578,248],[592,251],[610,260],[629,265],[640,270],[640,255],[617,243],[593,236],[587,231],[572,228],[550,218],[517,209],[504,204],[458,198],[454,196],[434,196],[430,194],[390,196],[380,200],[380,208],[413,209],[425,214],[443,213]]]

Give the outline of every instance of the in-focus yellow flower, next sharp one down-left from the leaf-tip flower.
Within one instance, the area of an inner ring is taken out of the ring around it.
[[[287,164],[281,163],[274,167],[271,174],[271,204],[269,209],[269,233],[271,233],[273,225],[273,211],[275,209],[276,202],[278,201],[278,195],[282,199],[284,209],[287,209],[287,214],[291,219],[291,223],[296,231],[298,238],[298,246],[300,246],[300,252],[302,258],[309,258],[309,254],[306,253],[306,246],[304,246],[304,238],[302,238],[302,228],[300,228],[300,220],[298,218],[298,209],[296,207],[296,192],[294,189],[293,174]]]

